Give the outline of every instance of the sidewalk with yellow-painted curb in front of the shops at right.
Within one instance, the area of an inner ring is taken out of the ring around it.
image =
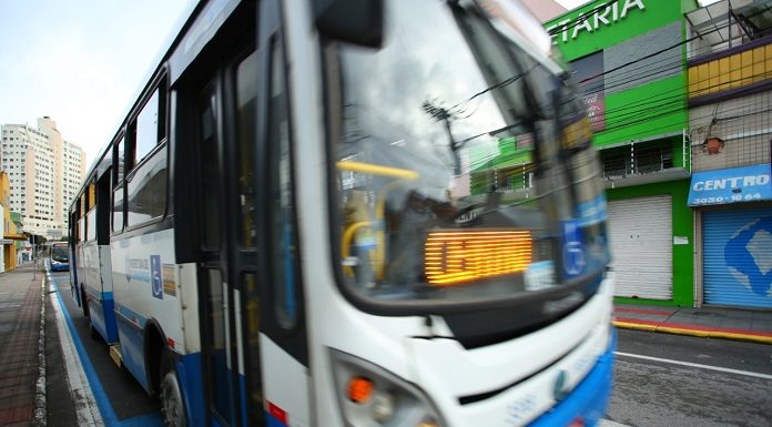
[[[614,304],[613,317],[613,325],[623,329],[772,344],[770,311]]]

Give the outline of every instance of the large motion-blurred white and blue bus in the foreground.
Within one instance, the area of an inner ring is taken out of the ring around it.
[[[75,297],[169,426],[592,426],[569,75],[517,2],[201,1],[70,209]]]

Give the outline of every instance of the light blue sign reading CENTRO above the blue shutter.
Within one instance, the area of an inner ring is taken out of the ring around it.
[[[770,164],[692,173],[690,206],[772,200]]]

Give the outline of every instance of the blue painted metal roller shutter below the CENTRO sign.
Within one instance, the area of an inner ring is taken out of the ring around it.
[[[705,304],[772,308],[772,207],[702,214]]]

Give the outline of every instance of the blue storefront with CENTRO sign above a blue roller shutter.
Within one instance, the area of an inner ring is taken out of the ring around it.
[[[698,303],[772,308],[770,164],[695,172],[689,205],[698,218]]]

